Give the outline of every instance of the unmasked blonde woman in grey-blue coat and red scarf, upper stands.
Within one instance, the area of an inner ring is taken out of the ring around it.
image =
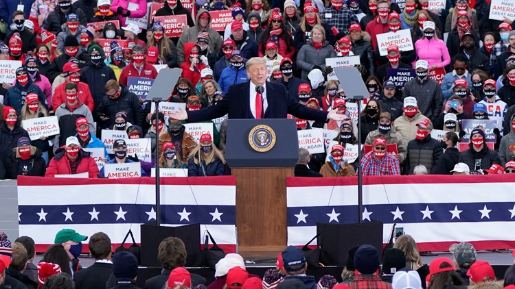
[[[314,66],[325,68],[326,58],[336,57],[333,47],[325,41],[325,29],[321,25],[314,25],[311,39],[309,44],[302,46],[297,55],[297,66],[302,70],[302,79],[307,79]]]

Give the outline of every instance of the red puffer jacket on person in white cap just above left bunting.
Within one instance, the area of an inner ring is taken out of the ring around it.
[[[64,146],[56,150],[56,156],[50,160],[45,177],[55,177],[56,175],[71,175],[70,161],[65,156]],[[89,178],[98,177],[98,166],[95,160],[89,156],[87,151],[79,151],[77,160],[77,173],[88,173]]]

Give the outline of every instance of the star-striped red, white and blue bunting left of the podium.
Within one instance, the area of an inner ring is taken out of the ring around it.
[[[132,229],[155,221],[155,179],[55,179],[19,177],[20,236],[38,249],[54,243],[60,229],[91,236],[103,231],[120,244]],[[201,224],[226,252],[236,249],[235,177],[161,178],[161,224]],[[87,246],[84,246],[87,251]]]

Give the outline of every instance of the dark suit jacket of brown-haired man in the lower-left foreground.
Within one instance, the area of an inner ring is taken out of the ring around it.
[[[98,263],[73,274],[76,289],[106,288],[106,282],[113,273],[113,264]]]

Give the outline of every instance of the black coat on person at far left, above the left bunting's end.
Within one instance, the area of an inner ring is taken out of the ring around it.
[[[41,157],[41,151],[36,147],[30,147],[30,159],[21,160],[18,149],[9,153],[5,163],[5,177],[17,179],[19,175],[32,175],[34,177],[45,177],[47,163]]]

